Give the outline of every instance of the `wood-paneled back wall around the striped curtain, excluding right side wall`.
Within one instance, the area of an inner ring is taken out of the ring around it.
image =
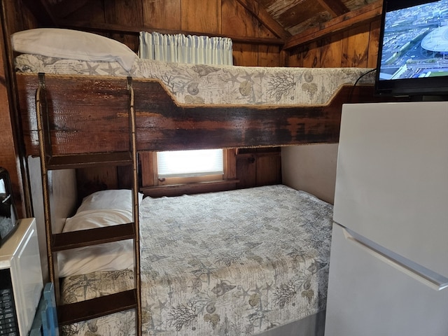
[[[73,22],[88,22],[90,27],[146,28],[162,33],[191,31],[197,34],[241,36],[241,38],[274,38],[271,31],[254,18],[235,0],[92,0],[89,8],[80,8],[64,18]],[[138,50],[138,34],[106,34]],[[283,66],[284,53],[280,45],[235,42],[234,64],[244,66]]]

